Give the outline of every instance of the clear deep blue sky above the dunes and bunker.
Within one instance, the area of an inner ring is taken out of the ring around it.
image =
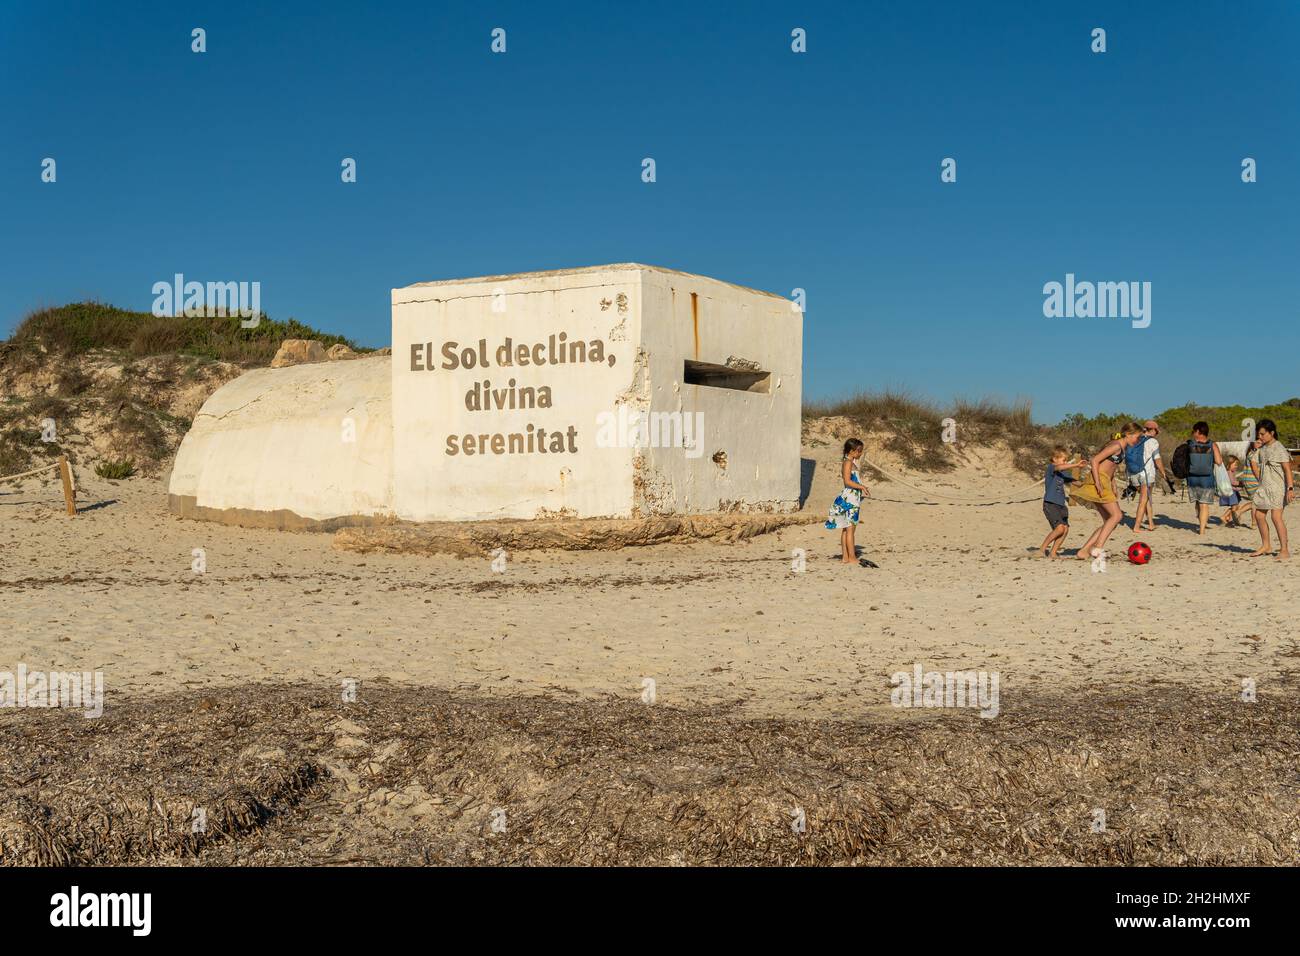
[[[5,3],[0,333],[183,272],[378,346],[394,286],[634,260],[806,289],[810,398],[1282,401],[1297,48],[1294,0]],[[1067,272],[1150,328],[1044,317]]]

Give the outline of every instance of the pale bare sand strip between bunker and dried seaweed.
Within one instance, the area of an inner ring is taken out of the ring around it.
[[[810,512],[833,497],[835,451],[805,447]],[[868,457],[901,470],[879,447]],[[910,479],[959,496],[1028,484],[996,451],[966,458]],[[363,555],[325,533],[183,520],[156,479],[79,475],[82,510],[68,519],[52,485],[27,483],[0,494],[5,657],[101,670],[107,706],[346,679],[636,701],[651,678],[660,704],[829,718],[904,715],[890,675],[915,663],[997,671],[1004,708],[1020,691],[1067,700],[1079,687],[1239,696],[1245,678],[1266,697],[1300,666],[1294,567],[1247,558],[1249,529],[1199,538],[1187,502],[1157,497],[1160,527],[1141,536],[1150,564],[1123,559],[1134,533],[1121,528],[1097,574],[1037,557],[1036,501],[918,505],[902,485],[868,481],[858,542],[879,568],[840,566],[836,536],[809,524],[734,545],[520,551],[502,572],[488,555]],[[1095,520],[1072,509],[1067,550]]]

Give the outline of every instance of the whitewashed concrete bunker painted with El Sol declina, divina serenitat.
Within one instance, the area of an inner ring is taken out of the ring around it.
[[[801,354],[788,299],[671,269],[420,282],[393,290],[391,356],[213,393],[169,502],[322,529],[794,511]]]

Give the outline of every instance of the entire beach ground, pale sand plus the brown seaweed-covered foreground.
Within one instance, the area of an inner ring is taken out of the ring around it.
[[[835,432],[806,429],[810,514]],[[991,449],[867,455],[1028,484]],[[1093,572],[1037,557],[1036,499],[871,484],[875,568],[815,522],[495,571],[182,519],[153,477],[82,476],[73,519],[29,483],[0,496],[6,666],[101,671],[104,705],[0,711],[0,864],[1294,861],[1294,568],[1253,532],[1158,498],[1154,561]],[[996,718],[894,706],[916,667],[996,675]]]

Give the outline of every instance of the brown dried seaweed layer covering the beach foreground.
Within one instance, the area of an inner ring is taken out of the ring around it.
[[[6,711],[0,862],[1287,865],[1295,689],[849,722],[393,685]]]

